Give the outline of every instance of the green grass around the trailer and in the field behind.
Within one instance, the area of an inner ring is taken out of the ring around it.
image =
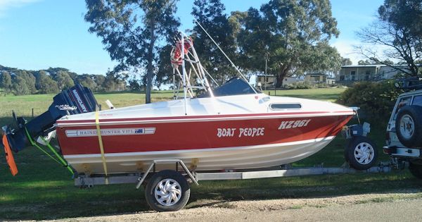
[[[281,90],[277,95],[335,101],[344,89]],[[274,91],[271,92],[274,95]],[[11,110],[18,116],[37,116],[46,111],[53,95],[0,97],[0,125],[11,123]],[[153,101],[172,98],[172,92],[155,92]],[[116,107],[143,103],[143,94],[96,94],[103,102],[110,99]],[[382,147],[385,125],[373,123],[371,138]],[[336,138],[328,147],[293,166],[340,166],[343,164],[345,140]],[[388,156],[379,150],[381,160]],[[81,189],[73,185],[70,173],[35,148],[15,154],[19,174],[11,176],[0,152],[0,221],[1,219],[56,219],[77,216],[126,214],[146,211],[143,190],[134,185],[98,185]],[[350,194],[397,192],[412,190],[422,197],[422,180],[407,171],[355,175],[317,175],[256,180],[203,181],[193,185],[187,207],[198,207],[203,199],[215,202],[238,199],[274,199],[298,197],[327,197]]]

